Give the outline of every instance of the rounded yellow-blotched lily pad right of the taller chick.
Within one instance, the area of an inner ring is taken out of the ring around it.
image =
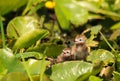
[[[115,62],[115,57],[111,52],[107,50],[98,49],[90,52],[90,55],[87,57],[87,60],[93,63],[103,61],[105,64],[109,64]]]

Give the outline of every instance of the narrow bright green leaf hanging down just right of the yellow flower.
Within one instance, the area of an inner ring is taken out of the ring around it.
[[[55,14],[58,18],[58,21],[61,25],[61,28],[63,30],[70,30],[70,22],[69,20],[66,18],[65,14],[62,12],[61,7],[59,6],[60,4],[58,2],[56,2],[57,0],[55,0]]]

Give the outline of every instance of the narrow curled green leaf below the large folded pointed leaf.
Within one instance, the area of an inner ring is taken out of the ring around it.
[[[16,58],[22,58],[21,54],[23,56],[23,58],[30,58],[30,57],[35,57],[36,59],[42,59],[43,58],[43,54],[40,54],[39,52],[24,52],[24,53],[17,53],[15,56]]]

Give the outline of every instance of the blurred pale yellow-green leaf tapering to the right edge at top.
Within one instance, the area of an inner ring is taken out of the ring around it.
[[[100,8],[100,5],[97,2],[93,2],[93,1],[74,1],[75,4],[82,6],[83,8],[94,12],[94,13],[101,13],[103,15],[107,15],[110,18],[114,19],[114,20],[120,20],[120,15],[110,11],[110,10],[105,10]]]

